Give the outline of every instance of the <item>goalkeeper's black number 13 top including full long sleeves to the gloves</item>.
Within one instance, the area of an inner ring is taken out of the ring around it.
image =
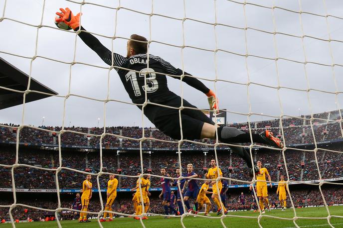
[[[81,30],[85,31],[83,27],[81,27]],[[166,74],[172,77],[180,76],[182,75],[182,70],[176,69],[169,62],[154,55],[149,55],[148,68],[147,54],[138,54],[126,58],[117,53],[112,53],[112,51],[107,49],[96,37],[88,32],[80,32],[79,36],[106,64],[114,66],[133,103],[143,104],[146,93],[148,101],[153,103],[163,103],[174,99],[175,96],[178,97],[169,90]],[[184,74],[190,75],[186,72]],[[174,78],[180,79],[180,77]],[[209,91],[196,78],[187,76],[182,80],[203,93],[208,93]]]

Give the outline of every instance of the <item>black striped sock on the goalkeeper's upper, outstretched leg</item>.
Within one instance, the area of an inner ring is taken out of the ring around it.
[[[251,142],[250,133],[242,131],[236,127],[220,126],[218,127],[218,139],[224,143],[232,142]],[[253,142],[265,143],[259,134],[252,133]]]

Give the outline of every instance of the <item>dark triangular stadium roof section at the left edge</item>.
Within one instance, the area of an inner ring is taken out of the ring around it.
[[[4,59],[0,58],[0,86],[8,89],[22,91],[27,89],[29,76],[24,72],[20,71],[18,68],[14,67]],[[51,97],[52,95],[57,95],[57,93],[50,88],[44,86],[38,81],[31,78],[30,90],[47,93],[40,94],[35,92],[30,92],[26,95],[25,103],[37,101],[43,98]],[[12,106],[21,105],[23,103],[23,93],[9,91],[0,88],[0,110],[6,109]]]

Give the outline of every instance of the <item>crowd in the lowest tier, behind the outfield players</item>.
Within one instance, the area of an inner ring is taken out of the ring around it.
[[[291,196],[293,204],[296,208],[304,207],[304,206],[313,206],[313,205],[324,205],[324,201],[322,198],[322,194],[320,193],[318,187],[311,188],[310,190],[306,187],[302,186],[303,190],[292,189],[291,188]],[[340,187],[323,187],[323,196],[326,200],[326,203],[328,206],[336,205],[336,204],[343,204],[343,189]],[[228,191],[227,193],[227,200],[225,202],[227,210],[256,210],[257,205],[255,203],[255,198],[253,194],[249,191],[246,191],[245,189],[242,190],[245,195],[245,201],[242,204],[238,196],[240,195],[240,191]],[[271,205],[271,208],[279,208],[279,197],[276,195],[276,189],[268,190],[269,191],[269,202]],[[97,194],[96,194],[97,195]],[[71,198],[71,194],[61,194],[61,208],[71,208],[73,198]],[[102,195],[102,197],[105,197],[105,195]],[[154,196],[150,199],[151,207],[149,209],[149,213],[155,213],[155,214],[164,214],[164,209],[161,204],[161,199],[158,198],[157,194],[154,194]],[[0,205],[8,205],[10,206],[13,203],[12,200],[8,199],[1,199]],[[24,199],[18,199],[17,204],[23,204],[23,205],[29,205],[32,207],[42,208],[42,209],[50,209],[54,210],[57,208],[57,197],[48,197],[48,198],[27,198],[24,197]],[[292,206],[291,200],[289,197],[287,197],[287,205]],[[176,207],[176,206],[175,206]],[[9,214],[8,214],[8,208],[9,207],[0,207],[0,220],[4,219],[5,221],[9,221]],[[99,212],[101,211],[101,204],[98,197],[94,197],[90,201],[89,206],[90,212]],[[132,206],[131,198],[128,196],[128,194],[125,194],[124,196],[118,195],[117,199],[115,200],[115,203],[113,205],[114,212],[118,213],[124,213],[128,215],[134,214],[134,208]],[[215,204],[212,202],[211,211],[216,211]],[[48,217],[49,220],[51,217],[54,218],[54,212],[48,212],[43,210],[36,210],[31,209],[28,207],[23,206],[16,206],[11,211],[13,219],[18,220],[29,220],[32,219],[33,221],[44,221]],[[78,215],[75,215],[74,212],[69,210],[62,210],[59,213],[62,220],[72,220],[77,219]],[[89,217],[91,215],[89,214]],[[93,215],[96,217],[96,215]],[[119,215],[115,215],[115,217],[118,217]]]

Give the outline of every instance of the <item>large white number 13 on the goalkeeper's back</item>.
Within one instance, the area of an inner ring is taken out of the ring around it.
[[[149,72],[149,73],[147,73],[147,72]],[[137,74],[138,74],[138,77],[143,77],[143,78],[145,75],[147,75],[146,76],[147,86],[145,86],[145,85],[142,86],[143,91],[146,91],[147,93],[154,93],[155,91],[157,91],[159,89],[159,83],[156,80],[156,74],[155,74],[154,69],[144,68],[139,73],[137,73],[135,71],[129,71],[125,75],[125,78],[126,78],[127,82],[128,81],[131,82],[131,85],[132,85],[132,88],[134,90],[136,97],[142,95],[140,86],[138,85],[138,81],[137,81],[138,80]]]

